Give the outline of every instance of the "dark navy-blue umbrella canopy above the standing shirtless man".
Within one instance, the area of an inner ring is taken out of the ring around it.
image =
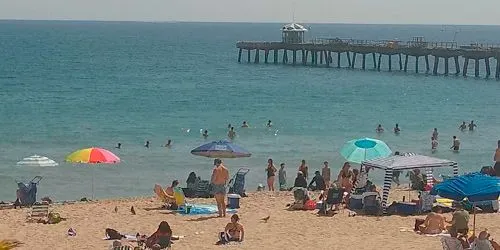
[[[201,145],[191,150],[191,154],[210,158],[241,158],[252,155],[248,150],[225,140]]]

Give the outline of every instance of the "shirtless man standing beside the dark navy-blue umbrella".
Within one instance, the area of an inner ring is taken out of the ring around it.
[[[217,202],[219,217],[226,217],[226,184],[229,180],[229,171],[220,159],[214,160],[214,170],[212,172],[212,191]]]

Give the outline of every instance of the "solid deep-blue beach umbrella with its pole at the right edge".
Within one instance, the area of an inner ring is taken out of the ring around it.
[[[436,184],[430,194],[455,201],[469,200],[473,204],[473,233],[476,229],[475,203],[479,201],[498,200],[500,195],[500,178],[481,173],[472,173],[446,179]]]

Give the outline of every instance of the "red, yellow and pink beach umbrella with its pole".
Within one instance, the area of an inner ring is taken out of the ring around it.
[[[103,148],[85,148],[66,156],[67,162],[83,164],[116,164],[120,158]],[[94,199],[94,170],[92,169],[92,199]]]

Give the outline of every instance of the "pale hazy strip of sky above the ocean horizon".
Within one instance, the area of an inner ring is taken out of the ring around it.
[[[500,0],[0,0],[0,19],[500,25]]]

